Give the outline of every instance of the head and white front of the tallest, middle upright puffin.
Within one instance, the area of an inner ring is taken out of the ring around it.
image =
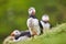
[[[38,20],[35,18],[35,9],[30,8],[29,14],[30,18],[28,19],[26,24],[31,35],[40,35],[41,31],[40,31]]]

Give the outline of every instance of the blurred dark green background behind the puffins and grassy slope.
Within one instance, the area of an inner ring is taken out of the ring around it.
[[[36,9],[38,20],[48,14],[53,26],[66,22],[66,0],[0,0],[0,42],[15,29],[28,30],[30,7]]]

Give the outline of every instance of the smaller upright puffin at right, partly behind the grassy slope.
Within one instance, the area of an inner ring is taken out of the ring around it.
[[[50,16],[47,14],[44,14],[42,16],[42,21],[40,21],[40,23],[42,25],[43,32],[46,32],[47,30],[51,29]]]

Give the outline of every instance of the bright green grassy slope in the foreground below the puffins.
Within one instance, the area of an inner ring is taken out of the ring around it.
[[[33,40],[20,41],[13,44],[66,44],[66,23],[53,28],[47,33]]]

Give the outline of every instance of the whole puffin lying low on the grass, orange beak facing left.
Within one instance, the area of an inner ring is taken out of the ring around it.
[[[19,30],[15,30],[11,35],[14,35],[15,41],[24,40],[24,37],[31,37],[30,31],[20,32]]]

